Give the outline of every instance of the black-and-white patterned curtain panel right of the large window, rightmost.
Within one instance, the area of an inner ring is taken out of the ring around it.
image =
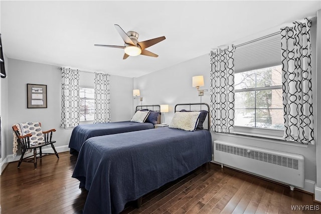
[[[310,24],[281,29],[284,139],[314,144]]]

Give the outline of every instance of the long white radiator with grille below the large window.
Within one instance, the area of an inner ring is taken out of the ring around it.
[[[304,187],[304,156],[214,141],[214,161],[293,186]]]

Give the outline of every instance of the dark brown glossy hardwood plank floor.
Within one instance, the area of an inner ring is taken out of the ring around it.
[[[32,163],[10,163],[1,175],[2,213],[82,213],[87,191],[71,177],[76,158],[68,152]],[[139,209],[128,203],[123,213],[320,213],[291,210],[314,205],[311,194],[291,191],[215,164],[201,167],[143,197]]]

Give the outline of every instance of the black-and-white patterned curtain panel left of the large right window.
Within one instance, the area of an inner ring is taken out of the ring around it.
[[[234,130],[234,51],[211,51],[211,129],[216,132]]]

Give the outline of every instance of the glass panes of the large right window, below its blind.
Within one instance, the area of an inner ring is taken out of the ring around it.
[[[235,74],[235,126],[284,129],[282,67]]]

